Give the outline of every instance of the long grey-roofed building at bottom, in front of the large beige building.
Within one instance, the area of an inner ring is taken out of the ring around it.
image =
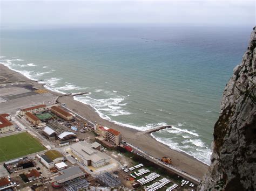
[[[85,178],[85,173],[78,166],[66,168],[59,171],[59,173],[60,175],[55,177],[55,180],[59,185],[66,185],[70,182]]]

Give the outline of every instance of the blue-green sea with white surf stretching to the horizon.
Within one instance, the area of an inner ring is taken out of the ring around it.
[[[124,128],[172,129],[159,142],[210,164],[221,95],[250,27],[81,26],[1,29],[0,62]]]

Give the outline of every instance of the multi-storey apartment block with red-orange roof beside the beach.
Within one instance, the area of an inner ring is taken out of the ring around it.
[[[109,129],[96,124],[95,132],[113,145],[119,145],[122,142],[122,134],[114,129]]]

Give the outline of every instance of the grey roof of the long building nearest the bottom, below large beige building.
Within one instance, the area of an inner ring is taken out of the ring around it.
[[[79,176],[85,175],[82,169],[80,169],[78,166],[72,166],[59,172],[62,175],[55,177],[55,180],[58,183],[63,183],[63,182],[78,178]]]

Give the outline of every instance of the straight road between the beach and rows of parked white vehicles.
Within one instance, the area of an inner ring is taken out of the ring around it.
[[[197,185],[198,185],[199,182],[201,181],[201,180],[199,180],[198,178],[196,178],[196,177],[194,177],[194,176],[192,176],[192,175],[190,175],[190,174],[187,174],[186,172],[181,171],[180,169],[178,169],[178,168],[176,168],[176,167],[173,167],[173,166],[171,166],[171,165],[165,164],[165,162],[162,162],[162,161],[160,161],[159,159],[154,158],[152,155],[147,154],[146,152],[140,150],[140,149],[139,149],[138,147],[136,147],[136,146],[133,146],[133,145],[127,143],[127,142],[126,142],[126,144],[129,145],[130,147],[132,147],[132,148],[133,148],[133,151],[136,151],[136,152],[139,152],[139,153],[145,155],[145,157],[146,157],[148,160],[154,162],[155,164],[158,164],[159,166],[162,166],[162,167],[164,167],[164,168],[170,169],[170,171],[172,171],[172,172],[174,172],[174,173],[177,173],[177,174],[180,175],[180,176],[183,176],[183,178],[186,178],[187,180],[190,180],[190,181],[192,181],[193,183],[196,183]]]

